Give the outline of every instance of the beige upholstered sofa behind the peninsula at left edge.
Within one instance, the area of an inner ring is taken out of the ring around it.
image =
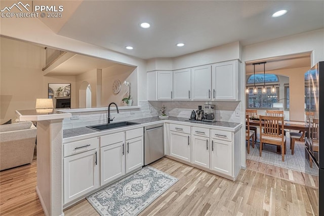
[[[0,125],[0,170],[31,163],[36,135],[32,122]]]

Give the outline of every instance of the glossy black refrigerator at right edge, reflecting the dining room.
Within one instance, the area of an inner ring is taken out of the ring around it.
[[[319,122],[324,123],[324,114],[319,111],[320,106],[324,107],[324,61],[305,74],[305,106],[305,120],[310,126],[305,137],[305,154],[319,168],[319,215],[324,215],[324,130],[320,132],[319,127]],[[315,126],[318,126],[316,132]]]

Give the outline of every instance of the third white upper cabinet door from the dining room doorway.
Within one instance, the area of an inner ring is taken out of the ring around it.
[[[173,71],[173,93],[175,100],[189,100],[191,97],[191,69]]]

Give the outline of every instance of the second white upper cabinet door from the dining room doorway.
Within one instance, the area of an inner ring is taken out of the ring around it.
[[[191,72],[191,89],[193,100],[212,99],[211,65],[193,67]]]

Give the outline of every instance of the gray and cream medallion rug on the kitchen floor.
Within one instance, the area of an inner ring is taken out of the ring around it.
[[[146,166],[87,200],[100,215],[138,215],[177,181],[176,177]]]

